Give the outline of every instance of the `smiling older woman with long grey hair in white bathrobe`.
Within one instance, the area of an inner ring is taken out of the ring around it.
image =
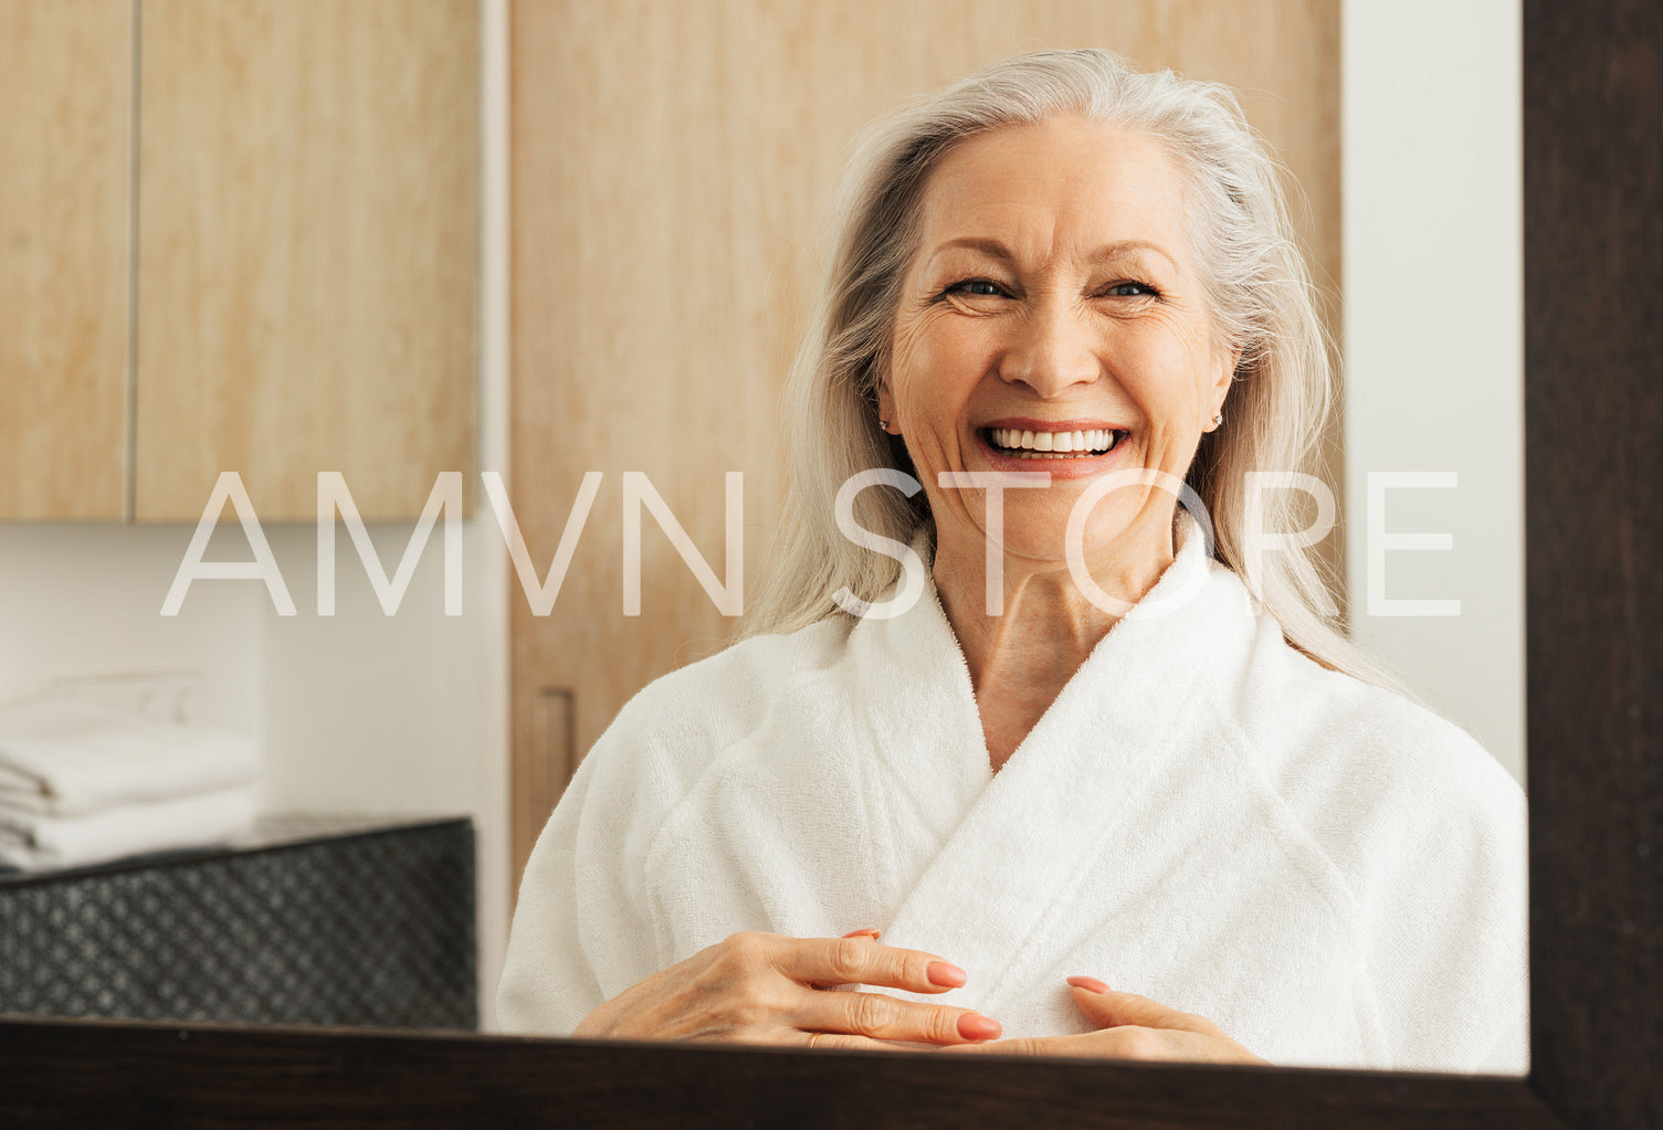
[[[504,1025],[1523,1070],[1518,786],[1256,552],[1329,372],[1234,98],[1008,60],[836,219],[782,563],[584,761]]]

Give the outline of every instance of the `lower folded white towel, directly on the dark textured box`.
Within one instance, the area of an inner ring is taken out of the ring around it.
[[[91,816],[43,816],[0,806],[0,866],[40,871],[126,856],[211,848],[254,826],[254,789],[239,786]]]

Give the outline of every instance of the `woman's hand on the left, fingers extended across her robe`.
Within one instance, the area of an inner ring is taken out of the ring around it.
[[[946,992],[963,984],[965,970],[933,954],[880,946],[876,931],[846,937],[747,932],[625,989],[584,1017],[572,1035],[865,1049],[996,1039],[999,1025],[970,1009],[823,992],[836,985]]]

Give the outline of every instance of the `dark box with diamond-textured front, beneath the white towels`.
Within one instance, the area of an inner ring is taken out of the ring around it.
[[[0,1012],[474,1029],[471,821],[343,823],[0,876]]]

